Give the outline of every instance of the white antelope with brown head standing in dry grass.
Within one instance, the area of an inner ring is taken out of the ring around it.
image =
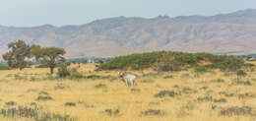
[[[135,79],[136,79],[135,75],[121,73],[119,75],[119,77],[125,83],[126,87],[128,87],[128,86],[130,86],[130,87],[135,86]]]

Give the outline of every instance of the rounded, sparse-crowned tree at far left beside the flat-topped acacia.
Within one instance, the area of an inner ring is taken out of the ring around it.
[[[23,70],[28,66],[28,59],[31,58],[31,47],[23,40],[8,43],[8,52],[3,54],[3,59],[12,68]]]

